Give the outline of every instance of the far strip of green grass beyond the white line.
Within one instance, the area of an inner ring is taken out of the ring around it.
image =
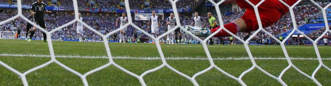
[[[42,41],[0,40],[0,53],[49,55],[47,43]],[[114,57],[160,57],[155,44],[109,43]],[[194,47],[190,47],[194,46]],[[249,45],[253,57],[285,57],[279,45]],[[292,47],[292,48],[288,48]],[[304,48],[302,48],[304,47]],[[53,41],[55,55],[107,56],[104,43]],[[165,57],[207,57],[202,44],[161,44]],[[313,46],[286,47],[290,57],[317,58]],[[318,46],[322,58],[331,56],[331,46]],[[212,57],[248,57],[243,45],[208,45]]]

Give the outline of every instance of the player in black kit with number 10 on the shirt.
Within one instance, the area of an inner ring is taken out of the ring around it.
[[[31,12],[30,14],[34,14],[34,16],[35,16],[34,23],[39,24],[40,27],[46,29],[44,13],[52,13],[51,11],[47,11],[46,4],[44,2],[42,2],[41,0],[38,0],[37,2],[32,3],[30,12]],[[37,31],[36,27],[33,27],[33,30],[29,31],[30,37],[27,40],[28,42],[31,42],[31,38],[33,37],[35,31]],[[46,33],[44,33],[44,32],[43,32],[43,37],[44,37],[44,42],[47,42]]]

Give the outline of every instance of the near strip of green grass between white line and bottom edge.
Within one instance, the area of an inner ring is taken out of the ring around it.
[[[50,58],[34,58],[34,57],[10,57],[4,56],[0,58],[1,61],[7,63],[9,66],[17,69],[20,72],[25,72],[33,67],[41,65],[50,60]],[[107,59],[86,59],[86,58],[58,58],[58,60],[70,67],[71,69],[80,72],[82,74],[107,64]],[[162,64],[161,61],[155,60],[137,60],[137,59],[114,59],[114,61],[125,68],[126,70],[136,73],[138,75],[143,72],[156,68]],[[280,74],[286,66],[288,66],[286,60],[256,60],[257,64],[266,70],[267,72],[275,75]],[[330,60],[323,60],[326,65],[331,65]],[[310,75],[318,65],[318,61],[312,60],[293,60],[294,64]],[[299,64],[299,63],[300,64]],[[207,60],[195,61],[195,60],[169,60],[167,63],[176,70],[183,72],[189,76],[193,76],[195,73],[200,72],[210,66]],[[238,77],[242,72],[246,71],[252,66],[249,60],[216,60],[215,65],[222,70]],[[15,73],[0,66],[0,85],[22,85],[21,79]],[[316,79],[322,83],[322,85],[330,85],[330,74],[324,68],[321,68],[317,74]],[[33,86],[49,86],[49,85],[82,85],[81,79],[71,72],[63,69],[57,64],[52,63],[45,68],[39,69],[35,72],[31,72],[26,76],[29,85]],[[99,72],[92,73],[86,77],[89,85],[91,86],[137,86],[140,85],[139,81],[118,70],[114,66],[109,66]],[[156,72],[152,72],[143,77],[148,85],[169,85],[169,86],[190,86],[192,83],[186,78],[176,74],[168,68],[162,68]],[[288,85],[300,85],[311,86],[315,85],[309,78],[298,73],[293,68],[287,71],[282,79]],[[196,77],[196,80],[203,86],[227,86],[227,85],[240,85],[235,80],[222,74],[221,72],[212,69],[202,75]],[[247,85],[280,85],[275,79],[270,78],[259,70],[255,69],[252,72],[247,73],[243,77],[244,82]],[[125,81],[125,83],[123,83]]]

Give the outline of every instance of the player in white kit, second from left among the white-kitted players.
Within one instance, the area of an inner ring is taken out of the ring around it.
[[[123,27],[126,23],[128,23],[128,18],[125,16],[125,13],[122,13],[121,17],[118,17],[116,20],[116,27],[118,27],[118,20],[121,22],[119,27]],[[125,43],[125,37],[126,37],[126,29],[127,27],[123,27],[123,29],[121,29],[121,32],[119,33],[119,42],[123,41],[123,43]]]

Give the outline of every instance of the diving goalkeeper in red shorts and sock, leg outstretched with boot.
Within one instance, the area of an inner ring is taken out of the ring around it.
[[[261,0],[249,0],[254,5],[257,5]],[[282,0],[289,6],[295,4],[298,0]],[[235,19],[234,21],[224,24],[224,28],[233,34],[238,32],[251,32],[259,29],[259,24],[254,12],[254,8],[244,0],[236,0],[236,3],[240,8],[246,9],[244,15],[241,18]],[[268,27],[273,23],[276,23],[284,14],[289,12],[289,8],[278,0],[265,0],[259,7],[259,14],[262,23],[262,27]],[[213,32],[220,29],[220,26],[213,27],[211,30],[208,28],[195,28],[193,26],[183,26],[187,31],[199,37],[207,37]],[[182,31],[183,32],[183,31]],[[184,32],[185,33],[185,32]],[[221,30],[213,37],[228,37],[230,34]]]

